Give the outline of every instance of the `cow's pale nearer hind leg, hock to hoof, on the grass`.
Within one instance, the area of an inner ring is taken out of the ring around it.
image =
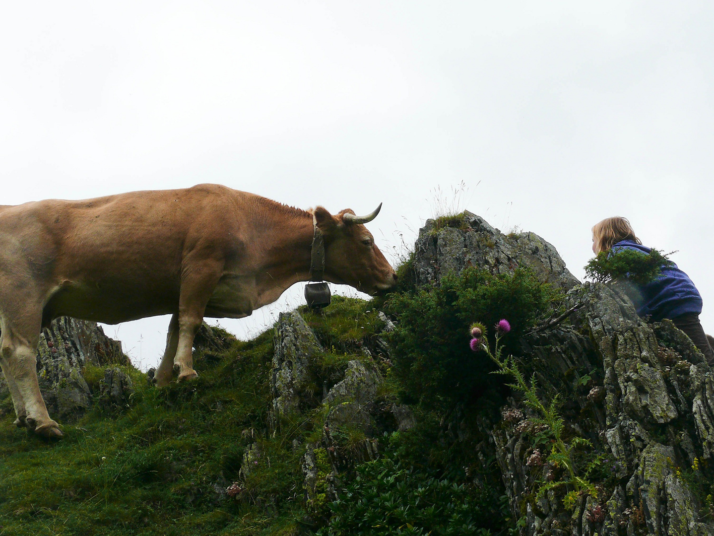
[[[36,348],[40,331],[39,318],[36,326],[34,322],[29,324],[32,324],[32,328],[3,323],[0,345],[2,370],[6,378],[12,378],[16,395],[19,397],[19,403],[14,404],[16,411],[20,410],[17,415],[19,423],[24,413],[25,423],[31,430],[48,438],[61,437],[59,425],[49,418],[37,383]]]

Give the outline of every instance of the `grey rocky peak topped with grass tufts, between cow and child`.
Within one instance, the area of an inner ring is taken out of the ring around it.
[[[569,290],[579,282],[565,268],[555,248],[535,233],[504,235],[483,218],[464,211],[458,227],[427,220],[414,244],[414,270],[418,285],[438,283],[443,275],[460,273],[467,266],[491,273],[512,273],[528,266],[540,278]]]

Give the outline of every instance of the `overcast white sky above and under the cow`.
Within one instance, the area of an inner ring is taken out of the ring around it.
[[[582,278],[626,216],[714,333],[714,4],[3,2],[1,204],[222,183],[367,213],[389,255],[463,181],[468,208]],[[392,257],[393,258],[393,257]],[[300,303],[301,288],[241,337]],[[146,369],[168,318],[106,327]]]

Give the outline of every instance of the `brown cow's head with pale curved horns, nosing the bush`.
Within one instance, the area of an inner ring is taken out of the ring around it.
[[[396,285],[394,269],[363,225],[376,218],[380,208],[381,203],[368,216],[355,216],[349,208],[333,216],[324,207],[315,208],[315,223],[325,237],[326,280],[371,295]]]

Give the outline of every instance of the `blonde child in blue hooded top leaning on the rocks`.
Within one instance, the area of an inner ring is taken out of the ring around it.
[[[593,226],[593,253],[631,249],[650,253],[635,236],[627,218],[605,218]],[[640,299],[635,303],[640,316],[650,316],[658,322],[669,318],[701,350],[710,365],[714,364],[712,350],[699,322],[702,297],[692,280],[677,265],[663,266],[661,275],[646,285],[637,285]]]

